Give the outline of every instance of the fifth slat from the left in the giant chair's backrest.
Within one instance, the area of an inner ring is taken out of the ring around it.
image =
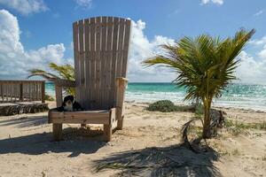
[[[100,107],[100,80],[101,80],[101,18],[96,18],[96,70],[95,70],[95,87],[96,87],[96,109]]]

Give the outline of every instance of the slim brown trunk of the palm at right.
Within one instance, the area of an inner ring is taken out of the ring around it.
[[[210,104],[211,100],[206,99],[204,101],[204,121],[203,121],[203,132],[202,132],[202,138],[207,139],[211,137],[210,133]]]

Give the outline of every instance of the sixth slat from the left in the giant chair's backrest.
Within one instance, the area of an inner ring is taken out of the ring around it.
[[[106,17],[102,17],[102,42],[101,42],[101,61],[102,61],[102,65],[101,65],[101,101],[100,101],[100,108],[102,109],[107,109],[108,106],[106,106],[106,77],[107,77],[107,72],[106,72],[106,50],[107,50],[107,18]]]

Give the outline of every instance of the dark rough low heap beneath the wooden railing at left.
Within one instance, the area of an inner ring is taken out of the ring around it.
[[[48,104],[2,104],[0,105],[0,116],[12,116],[21,113],[46,112]]]

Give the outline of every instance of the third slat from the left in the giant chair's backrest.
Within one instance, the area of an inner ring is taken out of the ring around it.
[[[86,97],[86,103],[84,108],[90,109],[90,19],[85,19],[85,88],[84,96]]]

